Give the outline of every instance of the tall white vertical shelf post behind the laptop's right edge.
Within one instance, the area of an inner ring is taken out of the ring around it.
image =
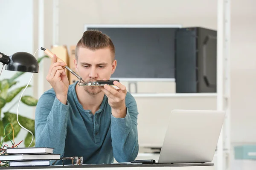
[[[217,10],[217,109],[226,111],[217,146],[217,170],[230,170],[230,0],[218,0]]]

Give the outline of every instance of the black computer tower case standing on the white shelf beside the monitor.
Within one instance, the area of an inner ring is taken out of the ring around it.
[[[175,32],[176,93],[216,93],[217,31],[193,27]]]

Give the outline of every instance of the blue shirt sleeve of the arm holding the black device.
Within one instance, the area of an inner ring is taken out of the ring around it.
[[[125,118],[115,118],[111,114],[111,139],[113,155],[118,162],[136,159],[139,151],[137,116],[138,109],[134,97],[127,93]]]

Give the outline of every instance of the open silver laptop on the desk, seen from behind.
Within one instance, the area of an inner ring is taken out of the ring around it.
[[[158,163],[211,162],[224,118],[224,111],[173,110]]]

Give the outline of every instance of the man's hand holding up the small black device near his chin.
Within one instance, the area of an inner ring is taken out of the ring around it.
[[[122,85],[120,82],[114,81],[119,89],[115,89],[109,85],[104,85],[102,91],[108,97],[108,104],[112,108],[112,115],[116,118],[125,118],[126,116],[126,106],[125,106],[125,96],[127,90],[125,85]]]

